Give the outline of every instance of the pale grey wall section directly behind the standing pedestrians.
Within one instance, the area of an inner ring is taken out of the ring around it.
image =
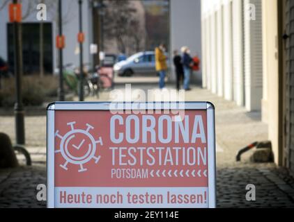
[[[198,53],[201,59],[201,0],[170,1],[171,55],[181,46],[189,46],[192,56]],[[172,56],[171,56],[172,58]],[[202,64],[201,64],[202,67]],[[172,71],[171,80],[176,76]],[[201,84],[201,71],[192,75],[194,83]]]

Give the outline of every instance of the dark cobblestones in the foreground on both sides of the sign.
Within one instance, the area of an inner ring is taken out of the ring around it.
[[[36,198],[45,184],[45,167],[0,171],[0,207],[46,207]],[[245,187],[256,185],[256,200],[247,201]],[[294,207],[294,180],[274,164],[240,164],[217,169],[217,207]]]

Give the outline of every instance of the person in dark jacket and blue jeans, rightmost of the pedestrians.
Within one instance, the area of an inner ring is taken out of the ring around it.
[[[191,90],[189,88],[189,82],[190,82],[190,76],[192,73],[192,67],[193,67],[193,59],[192,57],[189,55],[190,51],[189,48],[187,46],[183,46],[181,49],[182,53],[183,53],[183,57],[182,57],[182,63],[183,63],[183,68],[184,68],[184,89],[186,91]]]

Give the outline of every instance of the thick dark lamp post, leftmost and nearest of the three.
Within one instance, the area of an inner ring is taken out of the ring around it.
[[[13,0],[17,4],[17,0]],[[14,8],[16,10],[16,8]],[[16,143],[25,144],[24,137],[24,106],[22,104],[22,35],[20,32],[20,22],[13,22],[13,41],[15,46],[15,133]]]

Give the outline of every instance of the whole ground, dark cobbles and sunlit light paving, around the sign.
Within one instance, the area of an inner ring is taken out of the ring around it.
[[[156,85],[136,87],[148,89]],[[100,95],[100,100],[107,99],[107,92]],[[253,151],[242,155],[241,162],[235,162],[240,148],[267,139],[267,126],[260,121],[258,112],[246,112],[245,108],[199,87],[187,92],[185,99],[215,104],[217,207],[294,207],[294,179],[286,169],[273,163],[249,162]],[[14,138],[13,117],[0,117],[0,131]],[[44,202],[36,200],[36,186],[45,183],[45,117],[26,117],[26,135],[33,167],[0,171],[0,207],[45,207]],[[18,158],[22,161],[22,156]],[[245,198],[248,184],[256,186],[255,201]]]

